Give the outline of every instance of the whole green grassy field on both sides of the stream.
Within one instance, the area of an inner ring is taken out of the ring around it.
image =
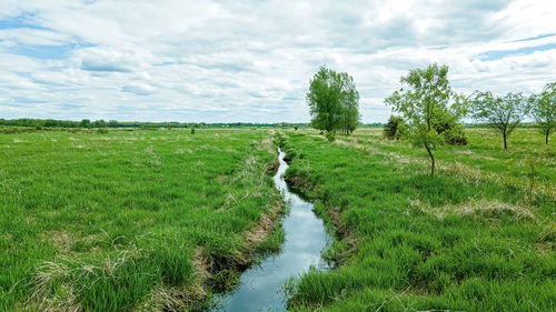
[[[518,129],[435,151],[359,129],[0,134],[0,311],[185,311],[277,251],[287,180],[337,263],[288,285],[294,311],[552,311],[556,150]],[[279,134],[281,132],[281,134]],[[534,184],[530,185],[532,163]],[[255,259],[256,260],[256,259]],[[73,309],[73,310],[72,310]]]

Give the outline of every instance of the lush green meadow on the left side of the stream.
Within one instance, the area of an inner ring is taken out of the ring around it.
[[[280,242],[268,130],[4,132],[0,311],[196,309]]]

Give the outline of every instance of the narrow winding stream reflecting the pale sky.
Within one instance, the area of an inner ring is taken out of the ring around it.
[[[329,241],[325,224],[312,213],[312,203],[289,191],[284,180],[284,172],[288,169],[284,161],[286,154],[279,152],[280,167],[272,179],[284,201],[290,205],[290,213],[282,221],[286,233],[282,252],[244,272],[238,289],[220,298],[221,304],[214,311],[285,311],[284,284],[291,276],[307,272],[310,266],[329,269],[320,259],[320,252]]]

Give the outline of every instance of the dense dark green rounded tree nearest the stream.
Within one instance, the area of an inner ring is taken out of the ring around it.
[[[347,72],[321,67],[309,83],[306,100],[316,129],[349,134],[359,124],[359,92]]]

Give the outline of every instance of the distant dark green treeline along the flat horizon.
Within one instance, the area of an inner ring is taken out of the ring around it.
[[[102,119],[91,121],[83,119],[81,121],[73,120],[56,120],[56,119],[3,119],[0,118],[0,127],[33,127],[40,128],[129,128],[129,129],[149,129],[149,128],[310,128],[310,123],[290,123],[290,122],[275,122],[275,123],[256,123],[256,122],[140,122],[140,121],[105,121]],[[361,123],[361,128],[381,128],[385,123]],[[533,122],[524,122],[522,128],[534,127]],[[486,123],[465,123],[468,128],[487,127]]]

